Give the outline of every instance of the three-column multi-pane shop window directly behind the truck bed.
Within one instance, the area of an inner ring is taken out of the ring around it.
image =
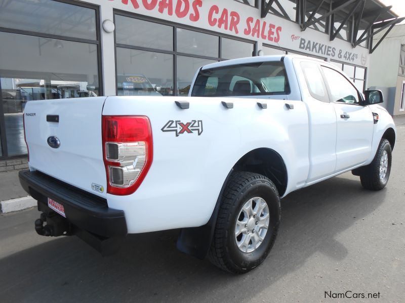
[[[254,51],[253,43],[221,34],[139,20],[127,13],[116,12],[114,19],[118,95],[187,95],[201,66],[251,57]]]

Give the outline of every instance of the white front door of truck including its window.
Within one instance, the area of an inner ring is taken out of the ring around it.
[[[340,72],[322,66],[331,103],[336,111],[336,172],[365,162],[371,154],[373,113],[362,106],[354,84]]]

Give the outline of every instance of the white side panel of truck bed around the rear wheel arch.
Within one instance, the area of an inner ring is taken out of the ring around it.
[[[190,109],[179,109],[175,100],[187,100]],[[305,105],[289,101],[294,110],[288,110],[283,100],[271,100],[271,110],[261,110],[257,99],[235,98],[234,108],[228,110],[221,105],[223,100],[114,96],[106,99],[103,115],[142,114],[152,125],[153,162],[141,186],[128,196],[107,194],[109,207],[125,211],[129,232],[207,223],[231,168],[256,148],[274,149],[285,159],[287,170],[291,171],[286,193],[304,185],[309,169]],[[176,137],[161,131],[168,120],[202,120],[204,131],[200,136],[192,133]]]

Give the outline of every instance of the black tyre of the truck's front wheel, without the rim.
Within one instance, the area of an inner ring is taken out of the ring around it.
[[[388,167],[384,178],[380,178],[381,158],[385,154],[388,156]],[[381,190],[387,185],[389,174],[391,172],[391,145],[387,139],[381,139],[380,146],[377,149],[373,162],[366,166],[360,175],[361,186],[370,190]]]

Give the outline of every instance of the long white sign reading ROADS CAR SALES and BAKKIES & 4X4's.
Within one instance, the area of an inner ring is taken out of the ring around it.
[[[91,0],[93,1],[93,0]],[[204,28],[249,40],[259,40],[275,48],[291,49],[309,55],[354,63],[368,64],[368,49],[342,39],[299,26],[290,20],[267,14],[260,18],[257,8],[242,3],[215,0],[108,0],[113,8],[135,12],[167,21]]]

